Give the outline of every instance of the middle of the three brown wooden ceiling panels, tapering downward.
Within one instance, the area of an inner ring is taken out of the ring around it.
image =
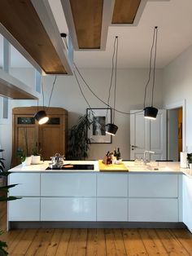
[[[80,49],[100,49],[103,0],[70,0]]]

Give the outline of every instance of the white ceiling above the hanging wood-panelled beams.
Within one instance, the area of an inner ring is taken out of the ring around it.
[[[60,33],[68,33],[60,0],[49,2]],[[117,35],[118,68],[148,68],[155,25],[159,27],[156,62],[158,68],[163,68],[192,44],[192,0],[147,2],[136,27],[109,27],[106,51],[75,51],[74,60],[81,68],[111,68],[113,42]],[[30,66],[18,52],[12,52],[12,66]]]

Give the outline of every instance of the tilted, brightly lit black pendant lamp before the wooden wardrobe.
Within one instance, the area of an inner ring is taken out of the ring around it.
[[[55,79],[54,79],[54,82],[53,82],[53,86],[52,86],[52,89],[51,89],[51,92],[50,92],[50,99],[51,99],[52,94],[53,94],[56,79],[57,79],[57,76],[55,76]],[[41,90],[42,90],[42,101],[43,101],[43,108],[44,108],[44,91],[43,91],[42,83],[41,83]],[[47,112],[48,112],[48,109],[50,108],[50,99],[49,99]],[[47,117],[47,115],[46,115],[45,109],[38,111],[38,105],[37,105],[37,113],[35,113],[34,117],[38,121],[39,125],[43,125],[49,120],[49,117]]]

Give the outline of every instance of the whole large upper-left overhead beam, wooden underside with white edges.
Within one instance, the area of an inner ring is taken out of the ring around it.
[[[40,73],[72,74],[48,0],[1,0],[0,32]]]

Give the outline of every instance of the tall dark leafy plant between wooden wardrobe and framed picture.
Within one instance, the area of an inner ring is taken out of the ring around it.
[[[87,129],[90,129],[92,120],[89,114],[85,114],[72,126],[68,135],[67,160],[85,160],[88,157],[90,141],[87,138]]]

